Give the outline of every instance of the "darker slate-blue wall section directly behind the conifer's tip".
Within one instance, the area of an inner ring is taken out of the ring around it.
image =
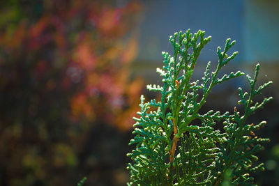
[[[243,0],[156,0],[146,1],[144,20],[140,25],[140,54],[137,61],[161,63],[162,51],[172,52],[169,36],[175,31],[206,31],[211,42],[202,52],[200,61],[216,60],[216,48],[227,38],[236,40],[235,51],[243,56]]]

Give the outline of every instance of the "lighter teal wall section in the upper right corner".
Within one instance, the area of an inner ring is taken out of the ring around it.
[[[244,61],[279,62],[279,1],[248,0],[245,10]]]

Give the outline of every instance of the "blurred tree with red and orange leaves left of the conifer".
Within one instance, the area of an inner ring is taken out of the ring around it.
[[[0,185],[75,185],[86,147],[102,145],[90,144],[94,126],[130,128],[140,10],[136,1],[1,1]]]

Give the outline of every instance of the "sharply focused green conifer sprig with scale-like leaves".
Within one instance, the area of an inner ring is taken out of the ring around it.
[[[133,160],[127,167],[131,173],[128,185],[252,185],[254,178],[250,173],[264,170],[264,164],[255,163],[255,153],[269,139],[256,137],[254,131],[266,125],[266,121],[251,124],[246,120],[272,99],[252,102],[272,82],[255,88],[257,64],[254,77],[247,75],[250,93],[239,88],[238,104],[243,104],[243,113],[235,107],[232,114],[213,110],[200,114],[213,86],[244,75],[238,71],[218,78],[221,68],[238,54],[227,54],[235,44],[227,39],[223,52],[220,47],[217,49],[216,69],[210,72],[209,62],[202,80],[191,82],[199,54],[211,40],[204,33],[192,34],[188,30],[169,37],[174,54],[163,52],[163,69],[157,68],[163,86],[147,86],[161,94],[160,101],[144,102],[142,95],[140,118],[134,118],[135,138],[130,145],[134,144],[135,150],[128,154]],[[224,132],[216,130],[216,122],[223,122]]]

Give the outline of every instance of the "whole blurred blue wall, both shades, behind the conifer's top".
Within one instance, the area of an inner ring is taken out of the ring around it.
[[[172,52],[168,37],[191,29],[212,36],[199,61],[216,61],[216,48],[236,40],[234,63],[279,62],[278,0],[153,0],[144,1],[140,52],[136,63],[158,64],[161,52]]]

